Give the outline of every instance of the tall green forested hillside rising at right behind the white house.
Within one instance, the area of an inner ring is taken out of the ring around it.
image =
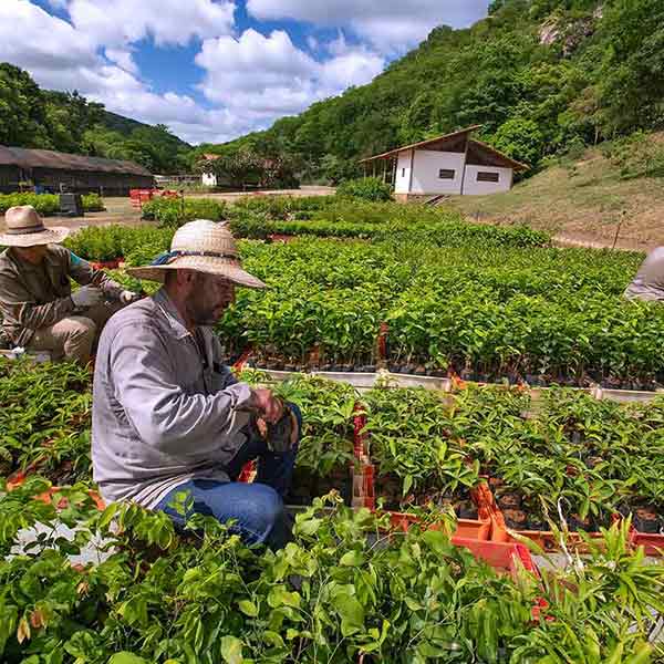
[[[339,178],[360,157],[471,124],[536,167],[664,126],[662,0],[495,0],[489,11],[467,30],[436,28],[371,84],[222,149],[279,145]]]

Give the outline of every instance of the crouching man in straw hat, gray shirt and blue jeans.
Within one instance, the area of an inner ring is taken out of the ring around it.
[[[92,461],[102,496],[176,523],[186,515],[174,504],[187,496],[188,512],[232,520],[249,543],[282,546],[300,414],[239,383],[212,331],[236,287],[263,282],[241,268],[228,227],[204,219],[181,226],[153,264],[127,271],[163,288],[114,315],[100,340]],[[257,457],[256,481],[234,481]]]

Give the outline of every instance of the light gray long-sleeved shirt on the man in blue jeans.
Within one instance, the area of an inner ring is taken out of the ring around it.
[[[221,364],[211,328],[199,331],[205,359],[163,289],[106,323],[92,406],[93,476],[104,500],[152,509],[189,479],[228,481],[251,388]]]

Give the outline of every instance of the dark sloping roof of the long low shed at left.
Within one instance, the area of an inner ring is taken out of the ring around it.
[[[25,149],[23,147],[6,147],[0,145],[0,166],[19,166],[21,168],[54,168],[61,170],[90,170],[93,173],[116,173],[127,175],[144,175],[151,177],[147,168],[123,162],[121,159],[104,159],[56,153],[50,149]]]

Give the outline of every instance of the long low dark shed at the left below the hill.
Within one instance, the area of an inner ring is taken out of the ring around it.
[[[81,194],[126,196],[129,189],[153,187],[154,178],[133,162],[0,145],[0,191],[18,191],[20,183],[54,194],[63,185]]]

